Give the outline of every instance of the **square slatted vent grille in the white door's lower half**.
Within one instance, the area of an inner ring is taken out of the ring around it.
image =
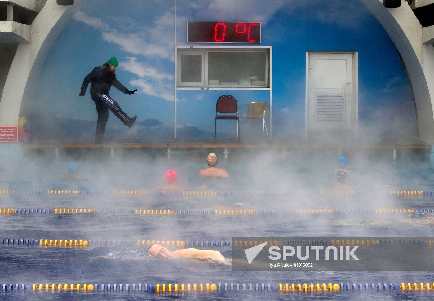
[[[317,122],[345,122],[345,100],[342,93],[315,93]]]

